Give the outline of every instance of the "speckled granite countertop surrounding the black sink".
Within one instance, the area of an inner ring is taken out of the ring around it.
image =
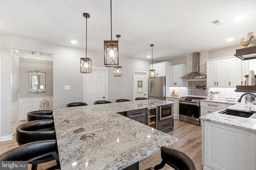
[[[229,106],[227,109],[238,111],[256,111],[256,105],[251,103],[239,103]],[[217,112],[218,111],[204,115],[200,117],[200,119],[256,132],[256,113],[249,118],[245,118]]]

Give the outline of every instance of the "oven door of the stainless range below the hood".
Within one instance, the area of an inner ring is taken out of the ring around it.
[[[200,104],[179,102],[179,120],[200,125]]]

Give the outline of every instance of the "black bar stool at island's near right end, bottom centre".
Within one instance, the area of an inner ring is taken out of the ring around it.
[[[159,170],[164,168],[165,164],[175,170],[196,170],[196,166],[190,157],[179,150],[163,146],[161,147],[161,158],[162,162],[160,164],[146,170]]]

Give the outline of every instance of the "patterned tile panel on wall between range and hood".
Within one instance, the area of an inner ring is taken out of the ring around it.
[[[188,81],[188,95],[207,96],[206,81]]]

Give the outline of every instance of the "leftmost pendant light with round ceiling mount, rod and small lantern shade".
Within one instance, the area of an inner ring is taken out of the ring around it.
[[[80,58],[80,72],[82,73],[92,73],[92,60],[87,58],[87,18],[90,18],[90,14],[84,13],[84,18],[86,18],[86,46],[85,46],[85,57]]]

